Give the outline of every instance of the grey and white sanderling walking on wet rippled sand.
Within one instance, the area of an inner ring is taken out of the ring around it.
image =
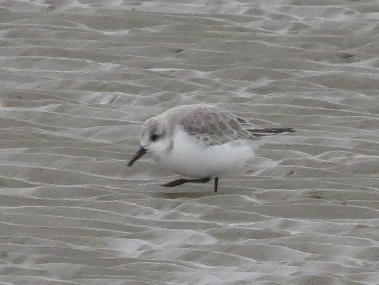
[[[246,119],[207,104],[181,105],[152,117],[143,124],[141,146],[128,162],[151,154],[162,168],[185,177],[163,184],[173,187],[184,183],[205,183],[237,173],[254,157],[257,139],[292,128],[259,128]]]

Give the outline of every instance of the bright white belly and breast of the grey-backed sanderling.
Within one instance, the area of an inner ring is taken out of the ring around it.
[[[221,177],[238,173],[254,150],[246,141],[232,141],[206,146],[180,131],[173,140],[173,149],[155,161],[163,168],[187,177]]]

